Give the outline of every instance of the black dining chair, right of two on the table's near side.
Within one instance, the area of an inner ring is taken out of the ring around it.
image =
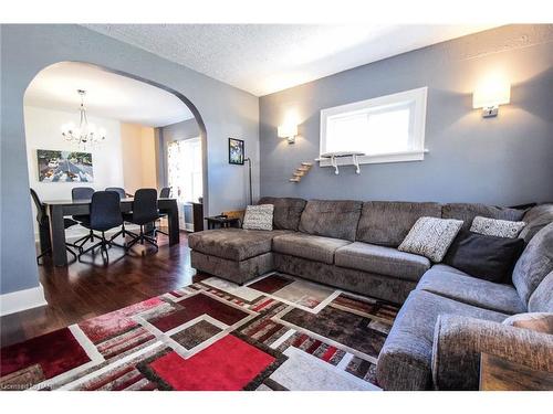
[[[128,232],[128,234],[133,235],[134,238],[126,245],[126,248],[133,247],[136,243],[147,242],[158,248],[157,241],[154,236],[149,236],[144,232],[144,226],[149,223],[155,223],[156,220],[159,219],[159,211],[157,210],[157,190],[155,189],[139,189],[135,192],[134,201],[133,201],[133,211],[131,213],[123,213],[123,219],[127,223],[138,224],[140,226],[140,233],[134,234]]]

